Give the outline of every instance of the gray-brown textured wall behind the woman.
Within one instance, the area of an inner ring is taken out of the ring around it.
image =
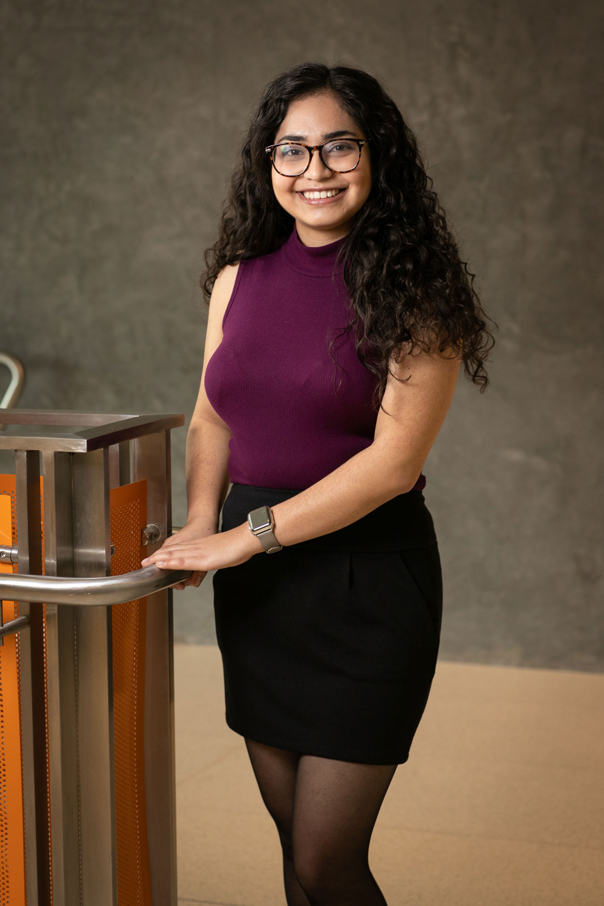
[[[590,0],[0,5],[1,346],[21,405],[185,411],[197,290],[245,120],[303,60],[375,74],[416,130],[486,311],[427,461],[442,656],[604,668],[602,6]],[[175,436],[175,521],[186,515]],[[177,634],[212,638],[210,577]]]

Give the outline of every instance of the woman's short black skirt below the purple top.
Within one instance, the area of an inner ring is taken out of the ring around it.
[[[221,530],[299,493],[235,484]],[[231,729],[306,755],[407,761],[436,670],[443,604],[421,491],[336,532],[216,570],[213,583]]]

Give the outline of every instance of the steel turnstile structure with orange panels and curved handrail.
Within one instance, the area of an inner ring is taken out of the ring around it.
[[[177,906],[170,585],[183,415],[0,411],[0,902]],[[5,454],[7,455],[7,454]]]

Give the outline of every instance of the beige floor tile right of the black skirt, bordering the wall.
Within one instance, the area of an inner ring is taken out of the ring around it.
[[[447,758],[604,765],[604,676],[439,661],[414,740]]]

